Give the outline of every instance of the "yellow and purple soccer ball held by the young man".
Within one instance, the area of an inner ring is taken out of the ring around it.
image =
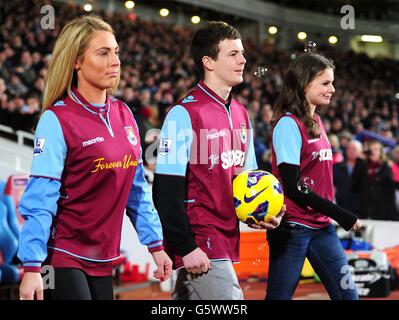
[[[233,181],[234,208],[238,219],[259,224],[276,216],[284,204],[280,182],[267,171],[248,170]]]

